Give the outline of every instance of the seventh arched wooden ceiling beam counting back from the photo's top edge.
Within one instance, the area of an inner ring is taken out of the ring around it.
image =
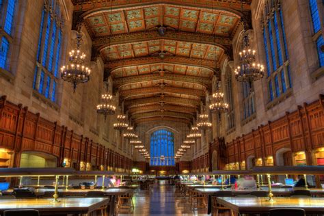
[[[136,114],[136,113],[145,113],[149,111],[156,111],[156,110],[167,110],[167,111],[176,111],[179,113],[196,113],[197,109],[193,107],[185,107],[180,105],[148,105],[142,107],[131,107],[128,109],[129,113]]]

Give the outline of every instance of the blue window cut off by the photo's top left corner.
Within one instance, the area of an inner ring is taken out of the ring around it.
[[[10,48],[14,40],[13,25],[16,8],[18,8],[17,0],[0,0],[0,68],[8,70],[10,61]]]

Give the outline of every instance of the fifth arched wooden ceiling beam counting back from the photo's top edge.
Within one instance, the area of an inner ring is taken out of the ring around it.
[[[192,90],[189,88],[180,88],[180,87],[145,87],[145,88],[137,88],[132,90],[121,90],[120,96],[122,98],[127,99],[132,96],[140,96],[140,95],[146,95],[146,94],[159,94],[159,93],[175,93],[175,94],[186,94],[195,96],[197,98],[200,98],[200,96],[204,96],[204,91],[202,90]]]

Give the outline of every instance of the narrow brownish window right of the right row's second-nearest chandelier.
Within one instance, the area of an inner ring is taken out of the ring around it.
[[[232,73],[226,72],[225,78],[225,89],[226,89],[226,98],[229,105],[228,111],[228,130],[234,128],[235,126],[235,113],[234,113],[234,102],[232,94]]]

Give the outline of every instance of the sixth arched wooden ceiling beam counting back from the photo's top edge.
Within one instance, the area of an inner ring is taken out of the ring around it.
[[[185,99],[185,98],[176,98],[165,96],[161,97],[150,97],[150,98],[139,98],[133,100],[124,100],[124,105],[128,108],[139,106],[139,105],[148,105],[154,103],[165,103],[165,104],[174,104],[174,105],[184,105],[189,107],[198,108],[200,106],[200,100]]]

